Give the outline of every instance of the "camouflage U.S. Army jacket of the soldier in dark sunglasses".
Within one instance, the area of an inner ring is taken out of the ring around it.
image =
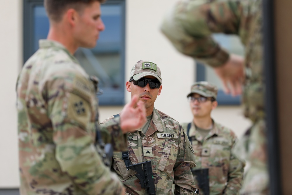
[[[102,125],[113,119],[113,116],[107,118]],[[176,120],[155,108],[146,134],[141,129],[127,134],[131,163],[152,161],[157,195],[172,194],[174,190],[175,194],[194,194],[196,186],[191,168],[195,166],[195,157],[190,141],[186,138]],[[151,154],[147,154],[145,149],[150,149]],[[131,169],[126,171],[122,153],[115,152],[113,157],[112,168],[126,186],[126,191],[129,194],[146,194],[134,175],[136,172]]]

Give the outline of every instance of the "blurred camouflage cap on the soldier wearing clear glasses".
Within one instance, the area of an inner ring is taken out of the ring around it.
[[[191,96],[193,93],[200,94],[204,97],[213,97],[217,98],[218,88],[208,83],[207,81],[199,81],[195,82],[191,87],[191,92],[187,95],[187,97]]]

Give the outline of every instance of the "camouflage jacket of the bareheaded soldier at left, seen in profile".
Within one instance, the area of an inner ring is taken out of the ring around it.
[[[93,83],[60,43],[39,44],[17,82],[20,194],[120,194],[94,145]],[[117,120],[105,128],[126,148]]]

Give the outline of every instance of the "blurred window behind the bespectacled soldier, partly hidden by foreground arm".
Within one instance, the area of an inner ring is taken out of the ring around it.
[[[244,56],[244,47],[238,36],[215,33],[213,38],[230,53]],[[217,101],[219,105],[239,105],[241,103],[240,96],[233,97],[224,93],[222,82],[211,67],[205,66],[200,62],[196,63],[196,81],[208,81],[218,87]]]

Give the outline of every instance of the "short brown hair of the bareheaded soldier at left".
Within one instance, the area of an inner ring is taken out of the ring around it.
[[[107,0],[44,0],[44,7],[50,20],[58,22],[62,18],[62,14],[66,9],[73,8],[81,11],[84,6],[99,1],[104,3]]]

